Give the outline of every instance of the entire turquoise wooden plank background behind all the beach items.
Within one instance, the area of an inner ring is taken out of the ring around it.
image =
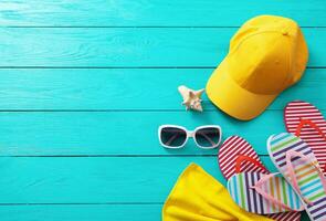
[[[296,20],[311,57],[303,80],[259,118],[241,123],[204,97],[186,113],[177,86],[204,86],[238,28],[257,14]],[[219,124],[266,166],[265,140],[284,130],[295,98],[326,114],[324,0],[15,0],[0,2],[0,219],[160,220],[194,161],[222,183],[217,150],[168,151],[161,124]]]

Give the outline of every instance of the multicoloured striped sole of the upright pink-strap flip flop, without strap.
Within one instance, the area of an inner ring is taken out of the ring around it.
[[[288,150],[301,152],[308,157],[312,164],[318,164],[309,146],[292,134],[282,133],[271,136],[267,140],[267,149],[275,167],[288,182],[291,182],[286,171],[286,152]],[[326,192],[323,188],[318,171],[298,157],[292,159],[292,165],[302,197],[312,201],[312,204],[304,203],[311,220],[325,221]],[[297,193],[299,194],[299,192]]]

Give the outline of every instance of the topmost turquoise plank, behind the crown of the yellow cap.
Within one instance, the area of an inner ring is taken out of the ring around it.
[[[263,9],[263,10],[262,10]],[[257,14],[280,14],[301,25],[326,25],[323,0],[17,0],[0,4],[1,25],[240,25]],[[244,13],[245,12],[245,13]]]

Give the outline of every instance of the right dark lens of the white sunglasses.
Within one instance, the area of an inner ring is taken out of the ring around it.
[[[219,128],[206,127],[196,131],[194,139],[199,146],[211,148],[220,143],[221,133]]]

